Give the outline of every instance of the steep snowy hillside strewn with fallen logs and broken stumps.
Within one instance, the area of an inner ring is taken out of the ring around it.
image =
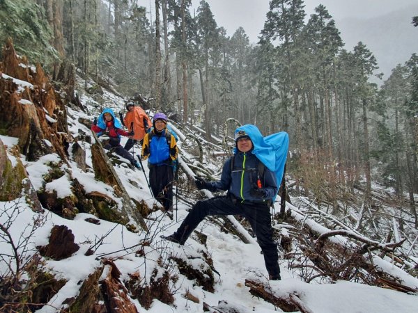
[[[286,214],[279,202],[272,209],[282,280],[270,281],[240,216],[206,218],[185,246],[160,237],[197,200],[216,195],[198,191],[193,178],[219,179],[235,120],[224,125],[225,142],[169,120],[180,170],[167,214],[149,191],[146,161],[137,170],[91,134],[103,107],[118,113],[124,99],[77,80],[80,106],[62,106],[41,68],[8,51],[0,72],[0,107],[13,112],[0,120],[0,311],[417,311],[416,219],[391,191],[373,186],[376,206],[364,209],[355,186],[331,211],[288,175]]]

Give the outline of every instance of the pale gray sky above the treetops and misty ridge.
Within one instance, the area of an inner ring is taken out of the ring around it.
[[[200,0],[192,0],[193,7],[199,6]],[[207,0],[218,26],[223,26],[228,35],[233,35],[239,26],[247,33],[250,42],[257,42],[263,29],[269,0]],[[322,3],[330,15],[338,21],[346,17],[377,17],[399,8],[417,4],[417,0],[304,0],[307,18]],[[418,12],[411,13],[418,15]],[[338,25],[337,25],[338,26]]]

